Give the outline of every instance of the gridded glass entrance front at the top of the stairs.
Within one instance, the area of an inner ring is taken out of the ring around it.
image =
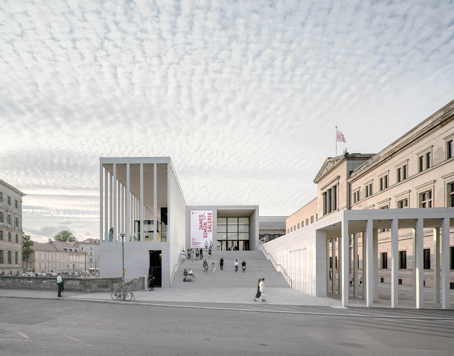
[[[249,250],[249,218],[217,218],[217,250]]]

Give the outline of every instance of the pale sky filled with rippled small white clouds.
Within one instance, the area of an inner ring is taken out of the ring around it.
[[[38,241],[97,236],[99,156],[171,156],[189,204],[287,215],[335,154],[453,99],[452,1],[0,3],[0,178]]]

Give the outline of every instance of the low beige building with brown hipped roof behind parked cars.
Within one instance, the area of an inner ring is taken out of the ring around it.
[[[85,251],[69,242],[35,242],[25,272],[81,272],[85,270]],[[87,265],[88,269],[88,265]]]

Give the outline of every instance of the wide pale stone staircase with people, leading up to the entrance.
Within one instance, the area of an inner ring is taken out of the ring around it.
[[[219,260],[224,259],[223,270],[219,268]],[[203,249],[203,258],[208,262],[208,274],[203,272],[202,261],[186,260],[178,266],[173,277],[172,287],[257,287],[258,278],[265,278],[265,285],[270,287],[289,287],[281,272],[277,272],[270,260],[267,260],[262,251],[214,251],[211,258]],[[234,262],[238,260],[238,272],[235,272]],[[241,269],[241,262],[246,262],[246,272]],[[214,262],[216,271],[214,276],[211,264]],[[197,277],[195,282],[183,282],[183,271],[192,269]]]

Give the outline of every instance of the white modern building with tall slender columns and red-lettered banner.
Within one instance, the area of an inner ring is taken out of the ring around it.
[[[181,252],[200,239],[257,249],[258,206],[188,206],[169,157],[100,158],[99,185],[102,277],[122,275],[124,251],[126,279],[152,273],[170,287]]]

